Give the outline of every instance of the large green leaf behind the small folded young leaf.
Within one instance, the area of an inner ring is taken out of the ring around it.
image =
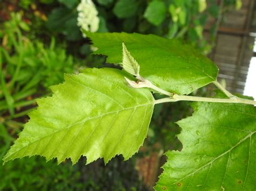
[[[140,65],[140,75],[156,86],[177,94],[189,94],[193,90],[215,81],[218,68],[214,63],[181,44],[176,39],[127,33],[90,33],[96,54],[107,55],[107,62],[122,62],[122,43]]]

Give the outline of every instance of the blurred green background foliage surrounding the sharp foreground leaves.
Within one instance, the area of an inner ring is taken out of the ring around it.
[[[86,0],[87,1],[87,0]],[[64,73],[86,67],[116,67],[104,56],[90,55],[90,41],[77,25],[79,0],[0,0],[0,159],[28,121],[36,98],[49,96],[49,86]],[[96,0],[98,32],[138,32],[178,38],[208,54],[225,13],[241,1]],[[203,32],[215,19],[210,38]],[[211,88],[211,87],[210,87]],[[206,88],[197,95],[208,94]],[[156,95],[160,98],[160,95]],[[186,102],[156,105],[144,146],[132,159],[102,160],[75,166],[69,160],[31,157],[0,165],[0,190],[147,190],[157,180],[167,149],[181,150],[175,123],[191,114]]]

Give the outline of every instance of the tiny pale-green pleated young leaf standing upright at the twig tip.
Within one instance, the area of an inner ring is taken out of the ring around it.
[[[123,68],[126,72],[134,76],[139,76],[139,64],[138,62],[132,57],[131,53],[127,50],[125,44],[123,43]]]

